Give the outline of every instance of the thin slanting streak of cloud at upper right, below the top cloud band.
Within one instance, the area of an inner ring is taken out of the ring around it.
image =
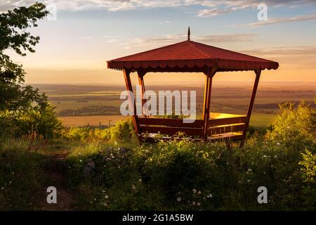
[[[316,20],[316,13],[315,14],[308,14],[308,15],[297,15],[294,17],[287,17],[287,18],[268,18],[268,20],[264,20],[258,23],[249,23],[246,25],[241,25],[239,27],[258,27],[263,25],[270,25],[275,23],[292,23],[292,22],[299,22],[304,20]]]

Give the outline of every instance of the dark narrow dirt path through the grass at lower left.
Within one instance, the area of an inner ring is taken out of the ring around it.
[[[65,211],[76,210],[74,201],[76,196],[67,188],[67,165],[65,159],[67,158],[68,150],[58,150],[57,153],[48,153],[48,159],[45,168],[46,182],[43,197],[40,201],[39,210],[45,211]],[[54,186],[57,190],[57,203],[48,204],[46,192],[48,186]]]

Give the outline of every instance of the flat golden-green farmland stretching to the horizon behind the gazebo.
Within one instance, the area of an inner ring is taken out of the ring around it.
[[[72,126],[107,126],[114,125],[124,118],[119,113],[120,100],[124,86],[110,85],[66,85],[38,84],[46,93],[48,100],[56,106],[55,112],[67,127]],[[174,86],[148,85],[146,90],[196,91],[197,115],[202,113],[204,85]],[[219,113],[245,114],[251,95],[249,83],[218,84],[213,86],[211,110]],[[278,103],[289,99],[294,102],[306,101],[315,107],[316,84],[261,84],[258,87],[254,110],[251,115],[252,126],[267,126],[276,115]]]

